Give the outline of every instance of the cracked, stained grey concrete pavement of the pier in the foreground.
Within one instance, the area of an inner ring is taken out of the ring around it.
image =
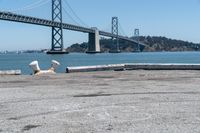
[[[0,133],[199,133],[200,71],[0,76]]]

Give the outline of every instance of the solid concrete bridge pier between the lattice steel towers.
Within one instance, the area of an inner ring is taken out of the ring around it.
[[[95,33],[89,33],[88,38],[88,51],[86,53],[95,54],[100,53],[100,41],[99,41],[99,30],[97,28],[93,28]]]

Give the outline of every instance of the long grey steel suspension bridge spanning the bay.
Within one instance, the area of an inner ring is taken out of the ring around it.
[[[138,45],[145,45],[137,40],[130,39],[126,36],[121,36],[118,34],[118,18],[112,18],[112,33],[98,30],[97,28],[87,28],[83,26],[68,24],[62,22],[62,0],[52,0],[52,20],[41,19],[31,16],[20,15],[12,12],[0,11],[0,20],[13,21],[19,23],[27,23],[34,25],[41,25],[52,27],[52,45],[51,50],[48,51],[49,54],[64,54],[63,45],[63,29],[84,32],[89,34],[88,51],[87,53],[99,53],[100,51],[100,40],[99,36],[116,38],[117,46],[118,39],[129,41]],[[117,51],[119,48],[117,49]]]

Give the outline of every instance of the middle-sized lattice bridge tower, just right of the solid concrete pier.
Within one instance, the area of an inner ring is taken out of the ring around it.
[[[112,17],[112,34],[116,35],[116,44],[115,44],[115,39],[114,37],[112,37],[112,42],[113,42],[113,45],[115,45],[115,49],[114,50],[111,50],[110,52],[111,53],[119,53],[120,52],[120,49],[119,49],[119,38],[118,38],[118,17]]]

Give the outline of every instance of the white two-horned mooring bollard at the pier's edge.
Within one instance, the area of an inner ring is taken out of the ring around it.
[[[56,68],[60,65],[59,62],[56,60],[52,60],[51,67],[48,70],[40,70],[38,61],[33,61],[29,64],[29,66],[33,69],[34,75],[41,75],[41,74],[55,74]]]

